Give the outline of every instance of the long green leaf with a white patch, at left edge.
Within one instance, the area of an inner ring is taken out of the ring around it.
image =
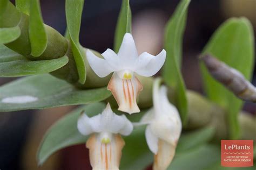
[[[80,90],[49,74],[29,76],[0,87],[0,111],[87,104],[105,100],[110,95],[106,87]]]

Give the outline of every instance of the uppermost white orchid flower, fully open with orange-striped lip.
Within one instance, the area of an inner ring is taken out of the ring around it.
[[[163,49],[157,56],[146,52],[138,56],[132,34],[126,33],[118,54],[108,48],[102,56],[104,59],[99,58],[89,49],[86,51],[90,66],[99,77],[114,72],[107,89],[116,99],[118,110],[129,114],[139,112],[136,100],[143,86],[134,73],[146,77],[156,74],[164,65],[166,51]]]

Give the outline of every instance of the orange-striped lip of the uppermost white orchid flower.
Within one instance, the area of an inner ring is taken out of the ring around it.
[[[120,77],[114,73],[107,86],[119,105],[118,110],[133,114],[139,112],[136,99],[139,91],[143,89],[142,84],[133,76],[130,80],[120,79]]]

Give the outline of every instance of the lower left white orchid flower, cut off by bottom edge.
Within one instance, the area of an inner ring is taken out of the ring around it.
[[[77,128],[85,136],[90,134],[86,141],[89,148],[90,163],[93,170],[119,169],[122,148],[125,145],[120,134],[127,136],[133,130],[132,123],[124,116],[118,116],[107,104],[102,114],[79,117]]]

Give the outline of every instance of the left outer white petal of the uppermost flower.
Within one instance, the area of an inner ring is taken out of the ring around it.
[[[87,49],[86,57],[93,72],[95,72],[99,77],[105,77],[114,71],[106,60],[93,54],[90,49]]]

